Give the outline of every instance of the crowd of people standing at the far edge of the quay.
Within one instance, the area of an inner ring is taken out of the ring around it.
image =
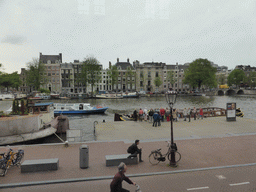
[[[148,110],[147,108],[142,109],[140,108],[139,111],[136,109],[133,112],[133,119],[134,121],[149,121],[153,122],[152,126],[160,126],[161,121],[170,121],[171,120],[171,112],[169,108],[160,108],[160,109],[150,109]],[[178,110],[178,109],[172,109],[172,118],[174,121],[178,121],[179,118],[183,117],[184,121],[188,119],[190,122],[190,118],[194,117],[194,120],[197,118],[203,119],[203,109],[200,107],[199,110],[196,109],[195,107],[193,109],[190,108],[184,108],[183,110]]]

